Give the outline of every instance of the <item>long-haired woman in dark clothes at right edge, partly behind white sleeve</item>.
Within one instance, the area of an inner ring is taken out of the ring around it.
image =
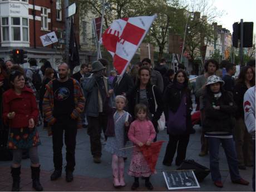
[[[253,165],[252,159],[252,138],[244,123],[244,93],[248,88],[255,85],[255,73],[252,67],[245,66],[239,73],[234,86],[234,101],[238,106],[235,114],[236,124],[234,127],[235,148],[237,150],[239,169],[246,169],[246,166]]]

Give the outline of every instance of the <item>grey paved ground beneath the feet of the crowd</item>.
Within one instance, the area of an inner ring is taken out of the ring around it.
[[[200,151],[201,132],[198,126],[196,126],[195,129],[196,133],[190,136],[186,159],[194,159],[199,164],[205,165],[209,168],[209,155],[205,157],[198,156]],[[111,154],[102,150],[102,163],[93,163],[90,152],[89,137],[86,134],[87,129],[80,129],[77,132],[76,167],[73,182],[66,182],[64,170],[60,179],[51,181],[50,175],[53,171],[52,139],[47,136],[47,131],[42,130],[41,127],[38,128],[38,130],[40,131],[40,138],[42,142],[42,145],[38,147],[38,152],[41,164],[41,184],[44,191],[130,191],[133,178],[127,174],[125,174],[126,186],[124,188],[116,189],[112,185]],[[160,132],[157,136],[157,140],[168,141],[166,131]],[[162,164],[166,145],[167,142],[163,144],[160,152],[159,161],[156,165],[157,174],[151,177],[151,183],[154,186],[154,191],[167,191],[168,189],[166,187],[162,171],[175,170],[178,168],[175,165],[167,167]],[[104,149],[104,146],[102,148]],[[62,152],[63,165],[65,166],[65,147],[63,147]],[[219,156],[220,170],[228,170],[227,159],[221,147]],[[128,159],[125,162],[126,173],[129,164],[130,156],[128,156]],[[10,165],[11,161],[0,161],[0,191],[11,190],[12,178],[9,169]],[[21,191],[33,191],[30,172],[29,159],[23,160],[21,169]],[[250,182],[249,186],[233,184],[230,180],[229,172],[221,171],[224,188],[217,188],[211,181],[211,177],[209,175],[202,183],[200,183],[200,188],[179,191],[252,191],[252,168],[240,170],[240,175]],[[138,191],[147,191],[144,186],[144,180],[140,180],[140,188]]]

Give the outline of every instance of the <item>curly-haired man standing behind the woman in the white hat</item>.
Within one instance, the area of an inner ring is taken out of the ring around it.
[[[196,78],[195,81],[195,97],[196,99],[200,100],[200,111],[201,111],[201,124],[204,118],[204,111],[203,109],[203,102],[200,99],[201,96],[204,95],[205,93],[205,87],[206,87],[206,81],[207,78],[211,75],[214,75],[215,72],[218,70],[219,68],[219,63],[216,62],[215,60],[208,60],[206,61],[205,65],[204,65],[204,74],[198,76],[198,78]],[[205,156],[208,154],[208,142],[204,137],[204,132],[202,132],[201,134],[201,152],[199,153],[199,156]]]

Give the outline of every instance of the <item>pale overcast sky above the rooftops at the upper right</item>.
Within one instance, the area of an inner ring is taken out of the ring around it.
[[[223,28],[233,32],[233,23],[253,22],[253,33],[256,33],[256,0],[215,0],[214,6],[225,13],[216,19]]]

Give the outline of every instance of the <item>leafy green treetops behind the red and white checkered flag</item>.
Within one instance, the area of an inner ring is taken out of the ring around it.
[[[101,16],[101,1],[80,0],[81,14],[90,10],[96,17]],[[109,8],[105,10],[105,29],[115,19],[123,17],[149,16],[157,14],[155,22],[145,37],[145,42],[150,42],[159,49],[158,59],[163,56],[166,43],[168,43],[169,30],[180,32],[184,20],[183,6],[180,0],[106,0]]]

